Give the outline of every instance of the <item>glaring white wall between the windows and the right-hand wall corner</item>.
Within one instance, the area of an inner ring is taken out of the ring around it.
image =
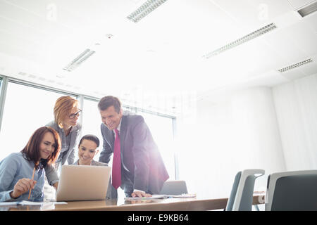
[[[180,179],[201,197],[228,197],[235,174],[265,169],[256,190],[266,190],[267,175],[284,171],[280,132],[272,91],[239,91],[230,99],[197,103],[191,117],[178,124]]]

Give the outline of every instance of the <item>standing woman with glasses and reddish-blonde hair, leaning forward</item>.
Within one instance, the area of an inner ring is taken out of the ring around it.
[[[56,100],[54,106],[54,121],[46,124],[58,132],[61,138],[61,152],[54,167],[46,167],[47,180],[51,186],[57,189],[58,167],[64,165],[66,160],[68,165],[73,164],[75,159],[75,146],[80,135],[81,125],[77,123],[81,110],[78,108],[78,101],[70,96],[62,96]]]

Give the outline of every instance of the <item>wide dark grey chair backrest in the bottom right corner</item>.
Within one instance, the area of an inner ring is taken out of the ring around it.
[[[317,170],[268,176],[266,211],[317,210]]]

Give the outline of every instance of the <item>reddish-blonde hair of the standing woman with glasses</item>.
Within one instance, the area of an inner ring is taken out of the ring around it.
[[[63,128],[63,120],[65,120],[71,113],[71,110],[78,106],[78,101],[70,96],[61,96],[56,100],[54,106],[54,119],[58,127]]]

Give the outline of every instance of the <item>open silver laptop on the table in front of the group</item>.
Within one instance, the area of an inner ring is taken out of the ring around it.
[[[63,165],[56,201],[104,200],[111,167]]]

